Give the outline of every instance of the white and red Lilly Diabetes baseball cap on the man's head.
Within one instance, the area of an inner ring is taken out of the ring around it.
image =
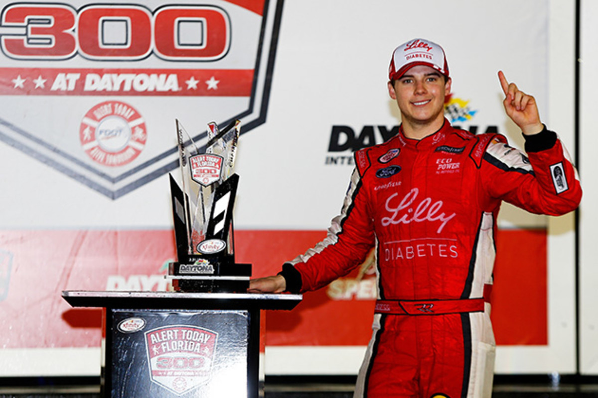
[[[449,77],[449,64],[443,48],[426,39],[413,39],[399,45],[393,51],[388,78],[396,80],[416,65],[431,66]]]

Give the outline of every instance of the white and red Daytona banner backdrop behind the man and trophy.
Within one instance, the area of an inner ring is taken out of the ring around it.
[[[0,6],[0,376],[99,374],[101,311],[71,308],[61,291],[168,288],[175,119],[199,145],[208,122],[242,120],[236,255],[265,276],[325,236],[352,152],[396,133],[386,88],[396,45],[423,36],[444,46],[454,125],[521,146],[499,69],[547,113],[547,1]],[[505,205],[500,227],[499,350],[545,354],[523,363],[499,355],[497,369],[571,371],[572,357],[554,350],[573,340],[555,341],[548,321],[558,305],[548,275],[568,278],[569,267],[549,269],[546,218]],[[293,311],[267,313],[266,373],[355,374],[371,334],[373,274],[304,297]],[[303,356],[289,363],[295,348]],[[60,368],[57,355],[68,358]]]

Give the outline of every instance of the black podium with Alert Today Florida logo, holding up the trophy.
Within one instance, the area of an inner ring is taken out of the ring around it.
[[[295,294],[63,291],[72,307],[106,308],[102,395],[259,395],[260,310]]]

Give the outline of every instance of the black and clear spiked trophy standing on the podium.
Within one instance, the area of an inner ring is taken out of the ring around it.
[[[182,189],[170,175],[177,260],[167,279],[181,292],[245,292],[251,264],[234,261],[233,207],[239,175],[233,174],[240,121],[220,130],[208,124],[200,153],[176,121]]]

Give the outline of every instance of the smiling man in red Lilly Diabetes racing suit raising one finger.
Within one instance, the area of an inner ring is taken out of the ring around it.
[[[502,200],[560,215],[581,200],[575,168],[535,99],[499,72],[509,118],[529,158],[499,134],[472,135],[444,118],[444,50],[414,39],[395,49],[388,90],[399,133],[355,153],[341,214],[325,240],[252,280],[250,292],[305,292],[358,266],[376,248],[373,336],[356,397],[490,397],[495,341],[489,294]]]

